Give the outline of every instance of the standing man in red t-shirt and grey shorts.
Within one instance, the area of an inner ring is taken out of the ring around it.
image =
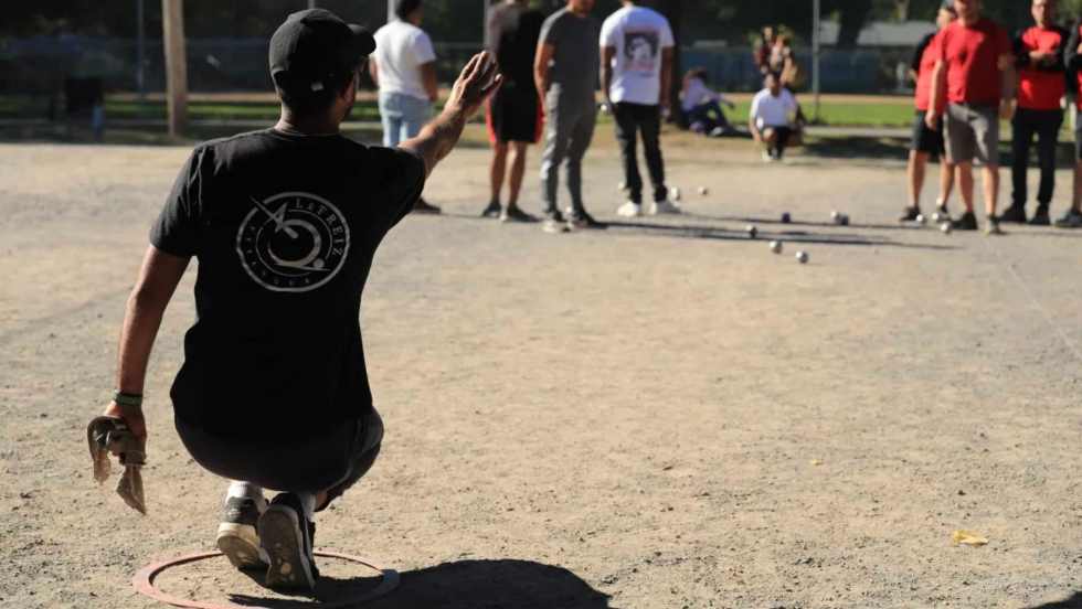
[[[958,190],[966,212],[954,221],[954,227],[977,229],[973,214],[973,161],[977,159],[984,163],[987,233],[998,235],[999,118],[1009,119],[1014,110],[1015,56],[1007,32],[980,17],[980,0],[954,0],[954,9],[958,20],[938,36],[940,58],[932,77],[926,122],[932,129],[943,124],[947,158],[958,167]],[[944,96],[947,106],[941,113]]]

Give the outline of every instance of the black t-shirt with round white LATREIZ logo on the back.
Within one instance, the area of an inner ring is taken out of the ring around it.
[[[150,235],[199,259],[177,417],[276,439],[365,414],[361,292],[424,182],[417,156],[341,136],[268,129],[197,148]]]

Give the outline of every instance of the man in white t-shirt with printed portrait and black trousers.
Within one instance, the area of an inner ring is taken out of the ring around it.
[[[661,111],[669,109],[672,84],[672,29],[657,11],[624,0],[624,8],[605,20],[601,29],[601,82],[605,103],[616,118],[616,140],[624,160],[624,184],[628,201],[616,213],[641,215],[643,178],[635,151],[637,132],[643,133],[646,164],[654,185],[651,214],[680,213],[669,202],[661,158]]]

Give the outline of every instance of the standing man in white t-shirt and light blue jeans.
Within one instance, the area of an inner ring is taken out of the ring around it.
[[[375,31],[375,54],[368,64],[380,88],[383,146],[388,148],[416,136],[439,98],[436,52],[421,29],[424,6],[421,0],[396,0],[394,15],[397,19]],[[438,214],[439,207],[422,197],[414,212]]]

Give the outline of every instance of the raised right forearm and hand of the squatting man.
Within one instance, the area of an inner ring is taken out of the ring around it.
[[[426,173],[432,174],[436,164],[458,143],[466,121],[477,114],[502,82],[503,77],[498,74],[490,53],[486,51],[474,55],[455,82],[450,98],[439,116],[426,125],[417,137],[402,142],[399,148],[421,157]]]

